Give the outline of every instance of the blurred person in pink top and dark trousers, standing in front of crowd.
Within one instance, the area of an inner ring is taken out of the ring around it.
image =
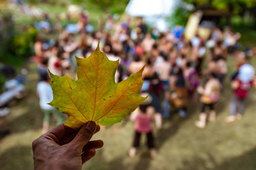
[[[141,96],[146,97],[148,96],[148,93],[143,93]],[[158,113],[155,113],[155,109],[150,106],[150,103],[152,102],[152,97],[148,96],[146,100],[143,101],[141,105],[139,105],[139,108],[136,109],[131,114],[131,120],[135,121],[135,137],[133,141],[133,147],[131,147],[129,151],[130,158],[134,158],[136,155],[137,147],[139,146],[139,141],[141,134],[147,135],[147,146],[150,149],[150,156],[152,159],[156,156],[156,150],[155,150],[155,142],[154,137],[152,135],[152,126],[151,121],[155,120],[156,122],[156,128],[160,129],[162,126],[162,117]]]

